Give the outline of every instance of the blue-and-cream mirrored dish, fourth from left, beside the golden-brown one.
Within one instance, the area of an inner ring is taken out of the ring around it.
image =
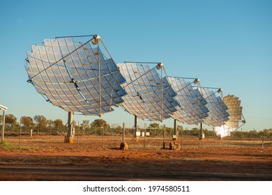
[[[206,125],[212,125],[213,127],[225,125],[226,121],[229,120],[227,106],[220,97],[216,96],[217,92],[209,91],[207,88],[202,88],[201,91],[207,102],[205,106],[209,109],[209,116],[204,118],[204,123]],[[218,90],[218,92],[220,92],[220,90]]]

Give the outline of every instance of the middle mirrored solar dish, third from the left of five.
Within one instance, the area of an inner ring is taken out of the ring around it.
[[[202,123],[203,118],[208,116],[209,109],[205,107],[207,102],[198,88],[192,87],[192,83],[197,84],[199,80],[186,82],[185,79],[176,77],[167,77],[167,80],[177,94],[174,99],[179,102],[179,106],[176,107],[177,111],[172,114],[172,118],[189,125]]]

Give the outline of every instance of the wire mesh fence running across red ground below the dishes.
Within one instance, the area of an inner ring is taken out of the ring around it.
[[[106,130],[104,128],[84,130],[75,129],[74,143],[64,143],[65,130],[7,130],[4,143],[13,148],[79,148],[79,149],[119,149],[125,141],[129,149],[168,149],[173,141],[173,131],[159,129],[125,128]],[[136,136],[137,134],[137,136]],[[248,132],[232,132],[228,137],[220,138],[212,132],[206,133],[203,139],[194,131],[179,131],[176,143],[181,148],[225,148],[225,147],[272,147],[271,134],[260,135]],[[2,144],[3,145],[3,144]]]

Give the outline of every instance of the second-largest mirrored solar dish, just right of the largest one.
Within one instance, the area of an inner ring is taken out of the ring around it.
[[[128,113],[141,119],[163,121],[176,111],[178,103],[174,100],[176,93],[167,79],[158,75],[156,68],[149,68],[146,63],[119,63],[121,74],[126,79],[122,84],[128,95],[123,96],[121,104]]]

